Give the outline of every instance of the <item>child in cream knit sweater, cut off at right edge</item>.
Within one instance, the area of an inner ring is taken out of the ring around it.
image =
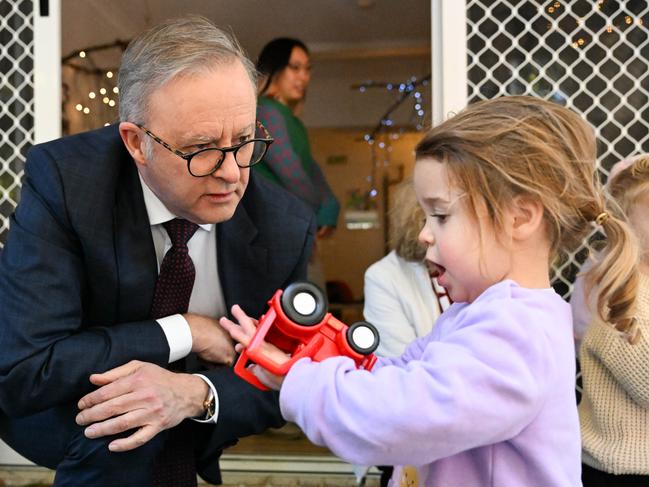
[[[591,316],[582,342],[584,487],[649,485],[649,155],[618,164],[607,187],[641,245],[639,287],[625,333]]]

